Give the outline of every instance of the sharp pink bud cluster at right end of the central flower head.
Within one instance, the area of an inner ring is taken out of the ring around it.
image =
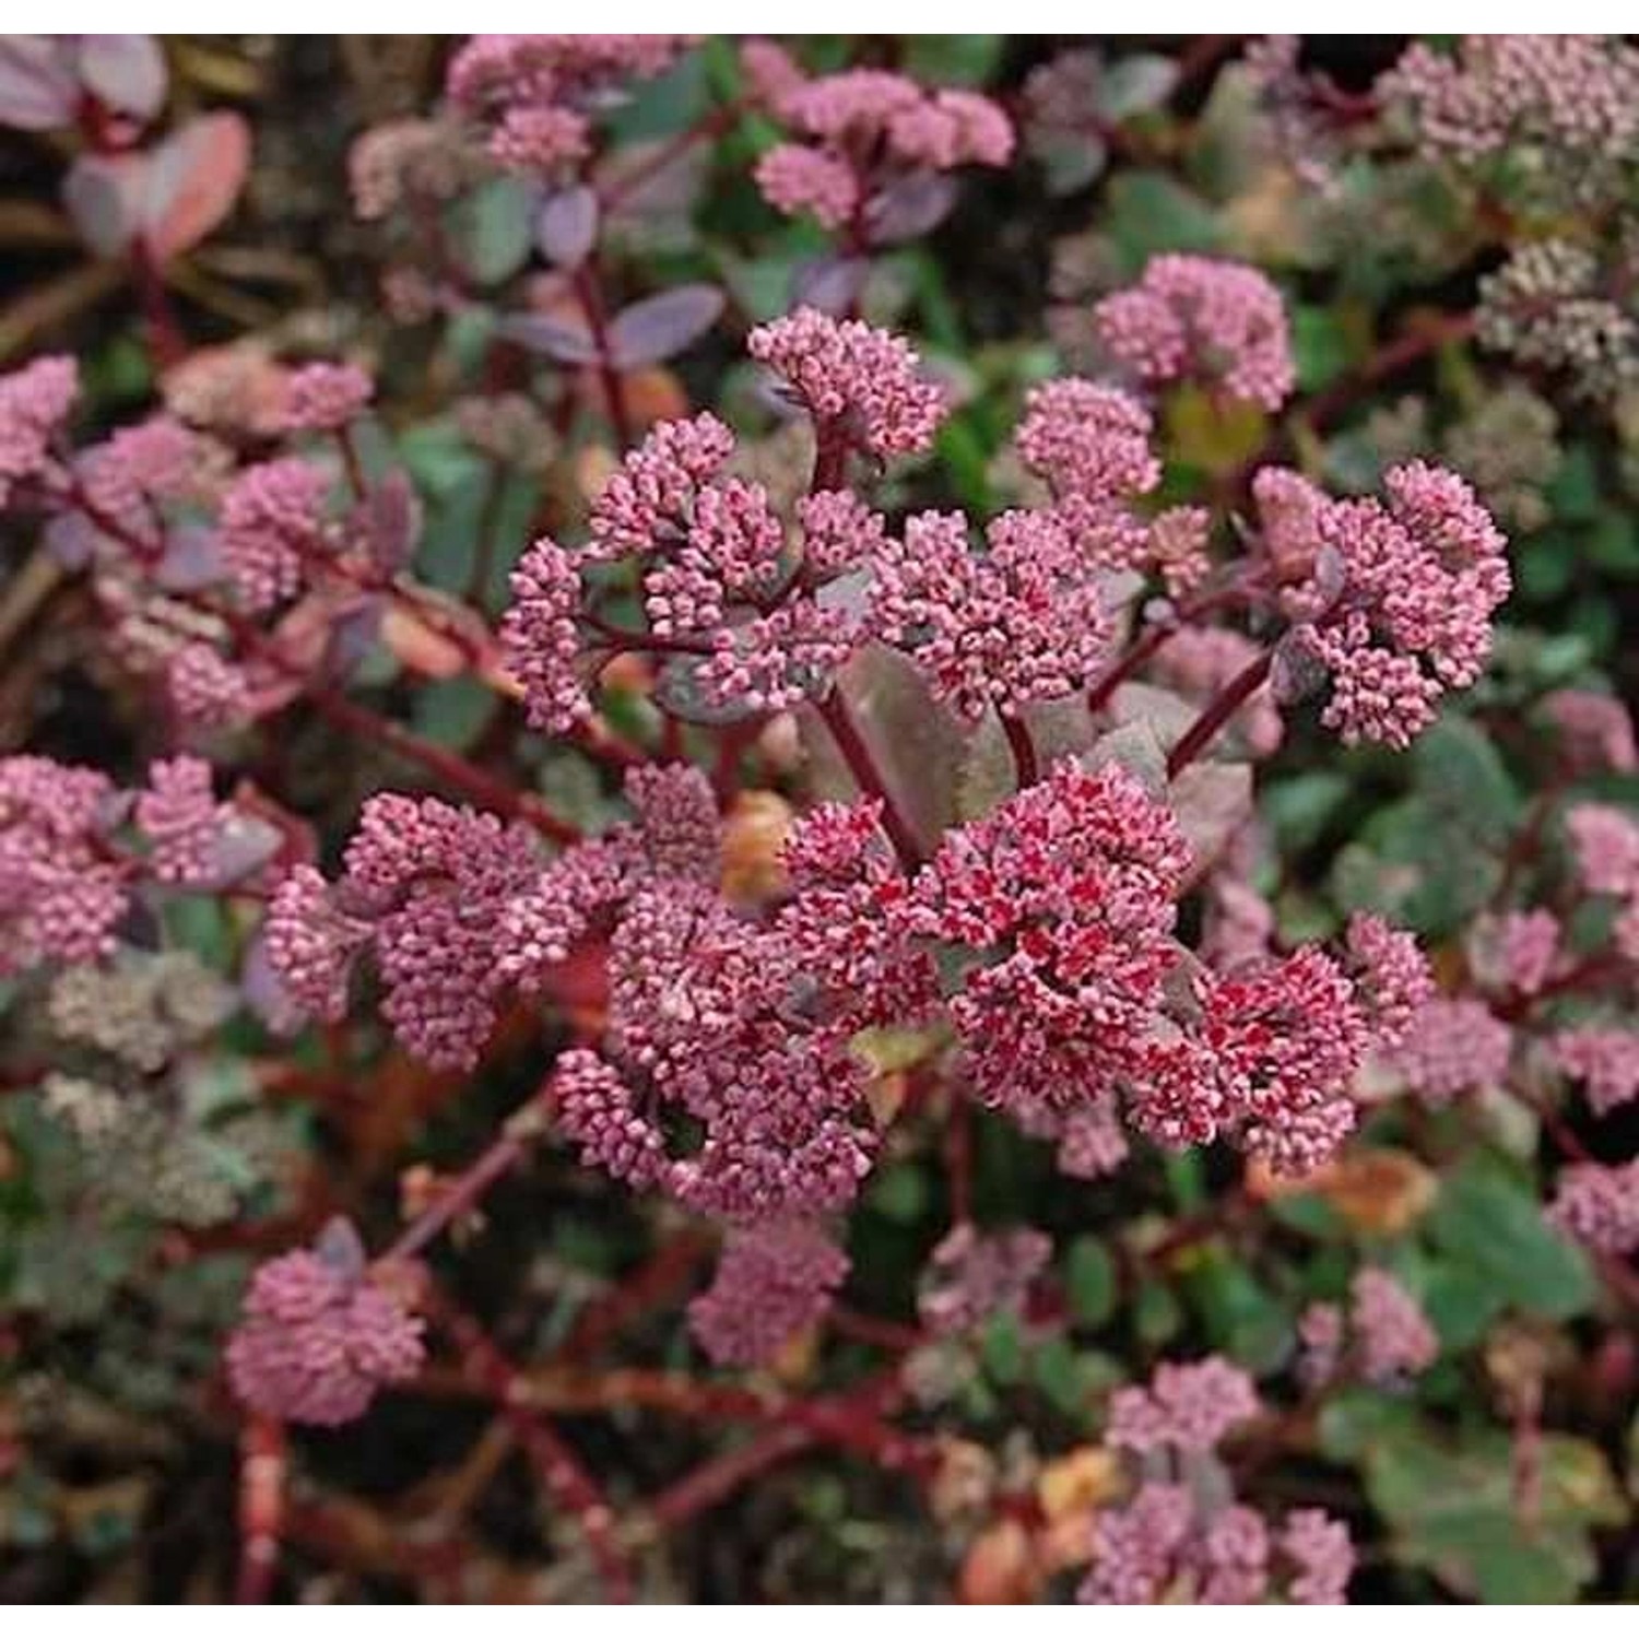
[[[1413,461],[1383,479],[1388,505],[1324,500],[1308,510],[1319,551],[1283,595],[1293,649],[1331,674],[1321,715],[1346,744],[1408,746],[1446,688],[1480,675],[1491,615],[1508,597],[1506,541],[1454,472]],[[1265,493],[1259,490],[1262,506]],[[1300,497],[1275,497],[1290,528]]]

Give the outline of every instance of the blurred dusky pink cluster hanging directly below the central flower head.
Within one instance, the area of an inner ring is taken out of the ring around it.
[[[847,1267],[847,1254],[806,1219],[736,1229],[710,1288],[688,1305],[688,1329],[718,1365],[769,1360],[824,1318]]]

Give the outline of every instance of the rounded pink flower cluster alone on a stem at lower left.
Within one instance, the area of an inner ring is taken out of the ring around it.
[[[266,1416],[351,1423],[382,1388],[421,1370],[421,1329],[369,1278],[357,1236],[333,1224],[316,1251],[287,1252],[257,1269],[228,1342],[228,1378]]]

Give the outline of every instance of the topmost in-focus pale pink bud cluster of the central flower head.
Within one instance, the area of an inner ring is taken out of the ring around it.
[[[820,423],[874,456],[926,449],[946,415],[944,390],[926,380],[900,336],[805,306],[759,325],[746,351],[780,375]]]

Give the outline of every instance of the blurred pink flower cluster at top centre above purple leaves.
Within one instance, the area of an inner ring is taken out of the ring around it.
[[[1005,166],[1013,156],[1013,123],[978,92],[924,90],[885,69],[808,79],[769,41],[749,41],[742,66],[757,100],[793,133],[756,169],[764,198],[787,215],[810,211],[842,228],[869,220],[906,172]]]

